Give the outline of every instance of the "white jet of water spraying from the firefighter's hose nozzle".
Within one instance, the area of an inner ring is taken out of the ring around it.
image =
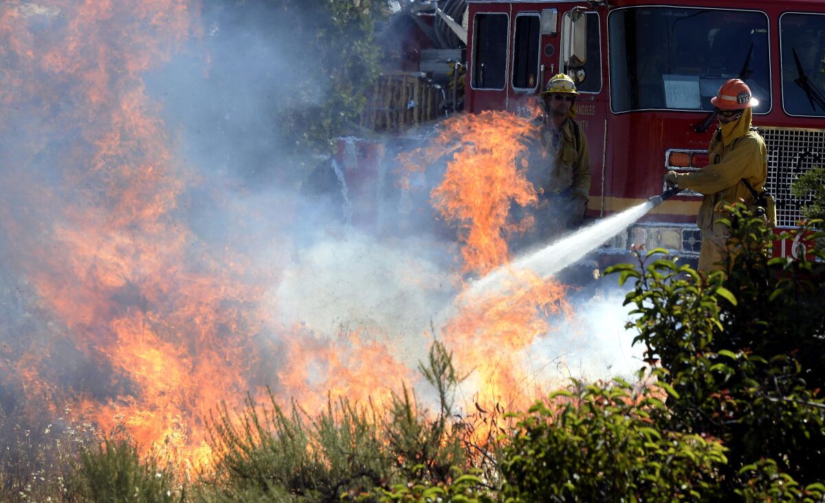
[[[615,214],[610,218],[582,228],[572,236],[563,237],[560,241],[554,242],[537,252],[522,256],[506,266],[498,267],[476,281],[467,291],[465,299],[474,299],[485,294],[501,291],[507,283],[516,280],[517,273],[521,270],[531,270],[542,278],[554,275],[559,270],[573,264],[587,252],[601,246],[601,243],[610,237],[628,228],[631,223],[640,219],[661,202],[660,196],[653,197],[643,204],[625,209],[620,214]]]

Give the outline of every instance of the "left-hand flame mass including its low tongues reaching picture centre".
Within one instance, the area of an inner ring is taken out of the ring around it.
[[[54,322],[31,345],[2,350],[4,376],[52,411],[68,404],[104,435],[122,428],[184,468],[210,461],[210,409],[241,407],[271,378],[285,402],[315,412],[327,390],[380,405],[382,390],[410,377],[392,348],[357,331],[328,340],[273,330],[262,298],[277,278],[200,241],[179,217],[196,180],[142,79],[200,33],[197,2],[0,9],[0,100],[22,110],[0,117],[0,132],[28,142],[0,172],[13,187],[0,236]],[[61,382],[61,357],[87,380]]]

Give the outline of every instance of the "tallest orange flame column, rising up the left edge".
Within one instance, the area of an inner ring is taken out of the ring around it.
[[[31,157],[3,180],[40,214],[0,205],[3,230],[29,254],[21,265],[66,340],[111,374],[98,383],[106,397],[60,388],[52,342],[24,355],[18,378],[54,402],[77,400],[104,432],[122,426],[145,449],[165,443],[194,464],[208,458],[205,411],[247,389],[256,353],[244,331],[259,322],[241,306],[260,292],[233,279],[237,259],[191,256],[197,239],[173,214],[190,177],[141,80],[197,31],[196,10],[185,0],[14,2],[0,15],[0,51],[13,62],[0,69],[12,83],[2,101],[47,118],[28,132],[40,142]],[[54,180],[39,183],[26,167],[55,140]]]

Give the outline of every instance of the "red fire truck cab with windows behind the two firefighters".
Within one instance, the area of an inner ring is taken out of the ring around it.
[[[527,110],[555,73],[577,82],[577,121],[591,149],[588,215],[662,192],[670,169],[708,163],[710,98],[742,78],[758,98],[766,187],[777,223],[801,218],[790,184],[825,154],[825,2],[819,0],[468,0],[464,109]],[[713,5],[713,7],[709,7]],[[665,201],[601,249],[664,247],[697,256],[701,195]],[[795,255],[786,243],[777,255]]]

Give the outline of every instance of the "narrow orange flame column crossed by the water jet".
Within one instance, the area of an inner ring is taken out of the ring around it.
[[[459,226],[464,272],[484,275],[506,266],[507,237],[534,224],[529,217],[512,222],[509,212],[513,202],[537,203],[535,187],[526,179],[528,142],[523,141],[537,134],[535,123],[507,112],[457,115],[441,125],[433,146],[401,157],[408,173],[449,159],[431,197],[441,215]],[[514,274],[505,291],[464,299],[459,313],[441,327],[460,368],[473,369],[476,407],[488,411],[529,407],[547,391],[527,370],[526,350],[548,333],[550,317],[573,316],[563,285],[530,271]],[[493,438],[490,425],[476,425],[474,441]]]

